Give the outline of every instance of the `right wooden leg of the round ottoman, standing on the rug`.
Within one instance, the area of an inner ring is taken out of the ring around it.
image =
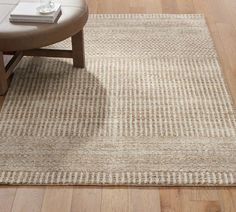
[[[84,36],[83,30],[72,36],[72,57],[74,67],[84,68]]]

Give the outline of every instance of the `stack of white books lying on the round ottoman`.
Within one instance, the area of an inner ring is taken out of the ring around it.
[[[20,2],[10,14],[11,22],[55,23],[61,14],[61,5],[54,3],[53,11],[42,13],[40,4]]]

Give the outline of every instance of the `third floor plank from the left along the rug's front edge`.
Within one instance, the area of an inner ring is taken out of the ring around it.
[[[49,186],[44,195],[42,212],[69,212],[71,210],[73,187]]]

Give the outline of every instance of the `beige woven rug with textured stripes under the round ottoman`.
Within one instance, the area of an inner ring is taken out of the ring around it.
[[[17,68],[1,184],[236,184],[235,110],[201,15],[91,15],[85,45],[86,69]]]

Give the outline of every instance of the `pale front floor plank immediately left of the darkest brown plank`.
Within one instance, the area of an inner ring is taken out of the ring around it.
[[[160,193],[158,188],[130,188],[129,189],[130,212],[160,212]]]

